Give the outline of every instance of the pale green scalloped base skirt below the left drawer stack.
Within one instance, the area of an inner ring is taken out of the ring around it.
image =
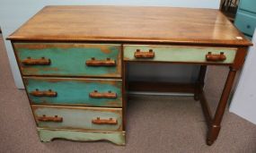
[[[38,128],[40,140],[49,142],[53,139],[95,141],[109,140],[117,145],[125,145],[125,132],[84,132],[71,130],[53,130]]]

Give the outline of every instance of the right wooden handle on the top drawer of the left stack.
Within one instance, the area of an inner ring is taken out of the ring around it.
[[[91,58],[91,60],[86,61],[87,66],[115,66],[116,61],[107,58],[106,60],[96,60],[95,57]]]

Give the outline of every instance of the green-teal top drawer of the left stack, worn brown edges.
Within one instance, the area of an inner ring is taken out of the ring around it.
[[[120,77],[120,45],[14,43],[23,75]]]

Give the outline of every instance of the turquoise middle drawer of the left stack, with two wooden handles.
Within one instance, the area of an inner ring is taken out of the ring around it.
[[[122,81],[23,77],[31,104],[122,106]]]

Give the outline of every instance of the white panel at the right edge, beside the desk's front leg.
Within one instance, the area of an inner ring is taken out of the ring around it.
[[[229,111],[256,124],[256,30]]]

